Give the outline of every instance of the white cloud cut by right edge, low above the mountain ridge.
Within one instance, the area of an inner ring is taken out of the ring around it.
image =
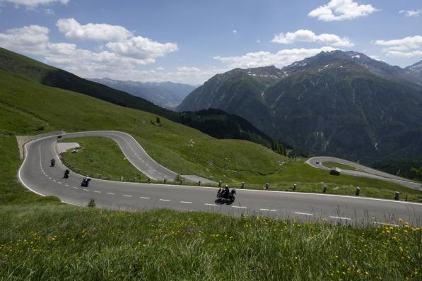
[[[387,56],[413,57],[422,55],[422,36],[409,36],[394,40],[376,40],[375,44],[385,47]]]

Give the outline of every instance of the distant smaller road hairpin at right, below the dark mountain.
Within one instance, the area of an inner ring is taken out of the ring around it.
[[[327,171],[329,171],[331,168],[325,167],[324,162],[336,162],[336,163],[348,165],[360,170],[360,171],[356,171],[356,170],[353,171],[351,169],[341,169],[341,174],[348,174],[350,176],[356,176],[356,177],[367,177],[370,179],[380,179],[382,181],[390,181],[396,184],[402,184],[403,186],[409,187],[411,189],[417,189],[417,190],[422,191],[422,186],[418,182],[410,181],[409,179],[404,179],[402,177],[397,177],[397,176],[394,176],[393,174],[387,174],[385,172],[381,172],[376,169],[372,169],[370,167],[359,165],[355,162],[351,162],[348,160],[343,160],[343,159],[334,158],[334,157],[320,156],[320,157],[310,158],[306,162],[308,165],[311,165],[312,167],[315,167],[318,169],[324,169]]]

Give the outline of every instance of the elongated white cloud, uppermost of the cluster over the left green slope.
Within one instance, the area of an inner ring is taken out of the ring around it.
[[[81,25],[74,18],[61,18],[57,20],[56,25],[66,37],[76,40],[119,41],[133,36],[129,30],[120,25],[105,23]]]

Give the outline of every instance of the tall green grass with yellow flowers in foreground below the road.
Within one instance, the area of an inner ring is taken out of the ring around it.
[[[58,204],[0,209],[0,279],[421,280],[422,231]]]

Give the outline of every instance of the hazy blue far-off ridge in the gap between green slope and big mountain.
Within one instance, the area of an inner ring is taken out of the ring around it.
[[[172,82],[138,82],[138,81],[122,81],[112,80],[110,78],[88,79],[111,88],[129,92],[131,95],[143,97],[144,99],[165,107],[167,109],[175,109],[184,97],[195,90],[195,86],[182,83]]]

